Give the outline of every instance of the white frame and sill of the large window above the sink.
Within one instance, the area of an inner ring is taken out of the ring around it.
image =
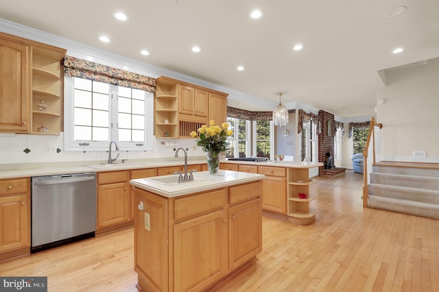
[[[145,141],[119,142],[117,85],[110,84],[108,141],[74,141],[74,77],[64,75],[64,151],[108,151],[111,140],[122,151],[152,151],[154,149],[154,93],[145,91]],[[88,145],[80,145],[86,143]],[[140,145],[143,144],[143,145]]]

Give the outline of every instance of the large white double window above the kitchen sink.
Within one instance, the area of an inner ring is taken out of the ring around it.
[[[79,77],[65,77],[64,147],[106,150],[152,149],[153,94]]]

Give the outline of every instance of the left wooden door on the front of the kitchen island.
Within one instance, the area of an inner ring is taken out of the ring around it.
[[[226,275],[227,229],[224,209],[174,225],[174,291],[201,291]]]

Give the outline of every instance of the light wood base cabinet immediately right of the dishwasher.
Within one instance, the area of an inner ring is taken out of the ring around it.
[[[130,222],[130,203],[130,171],[97,173],[97,230]]]

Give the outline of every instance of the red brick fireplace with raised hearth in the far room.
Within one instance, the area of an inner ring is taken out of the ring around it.
[[[318,112],[318,121],[320,122],[320,135],[318,135],[318,162],[324,166],[319,167],[319,175],[336,175],[343,173],[344,168],[335,167],[334,165],[334,137],[335,137],[335,119],[331,112],[320,110]]]

